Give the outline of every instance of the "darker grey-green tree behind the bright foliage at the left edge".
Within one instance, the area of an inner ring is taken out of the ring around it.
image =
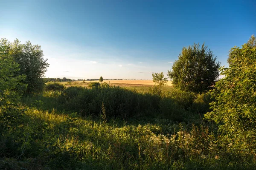
[[[44,74],[49,64],[44,59],[43,50],[40,45],[32,45],[30,41],[21,44],[18,39],[10,43],[5,38],[1,39],[1,45],[7,46],[6,51],[15,62],[19,64],[16,75],[26,75],[22,82],[27,84],[26,94],[38,93],[44,87]]]

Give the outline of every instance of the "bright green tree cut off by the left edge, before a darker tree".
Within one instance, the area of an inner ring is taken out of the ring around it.
[[[0,141],[4,141],[5,130],[17,128],[23,113],[17,109],[17,103],[26,90],[26,85],[21,82],[26,76],[16,76],[19,70],[19,64],[8,54],[7,46],[0,45]],[[5,144],[2,145],[0,155],[5,150]]]

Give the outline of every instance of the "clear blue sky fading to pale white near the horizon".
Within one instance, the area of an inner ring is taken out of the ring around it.
[[[0,37],[41,45],[46,77],[151,79],[182,48],[228,51],[256,34],[256,1],[0,0]]]

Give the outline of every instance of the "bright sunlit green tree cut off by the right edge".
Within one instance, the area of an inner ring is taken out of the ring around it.
[[[231,48],[224,78],[210,93],[215,101],[205,118],[219,125],[222,139],[241,152],[256,154],[256,38]]]

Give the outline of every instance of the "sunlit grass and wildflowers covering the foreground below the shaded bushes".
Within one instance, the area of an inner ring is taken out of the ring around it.
[[[5,134],[0,169],[255,169],[250,156],[239,158],[219,147],[207,127],[170,123],[101,124],[90,118],[28,108],[17,133]],[[117,120],[115,120],[117,121]],[[165,120],[161,120],[164,123]],[[122,124],[122,125],[119,125]],[[9,135],[9,136],[7,136]]]

